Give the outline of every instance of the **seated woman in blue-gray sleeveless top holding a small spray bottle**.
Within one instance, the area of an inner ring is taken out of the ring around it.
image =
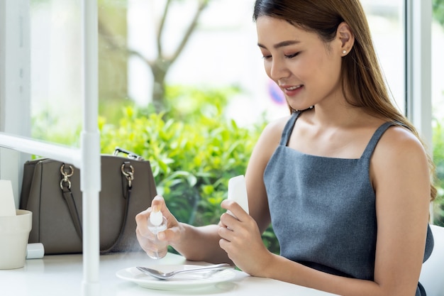
[[[270,123],[252,152],[250,215],[226,200],[237,219],[194,227],[156,197],[136,217],[140,245],[155,249],[146,221],[160,209],[169,228],[158,238],[189,260],[231,260],[338,295],[426,295],[418,278],[433,248],[433,164],[390,102],[360,2],[257,0],[253,19],[291,115]],[[262,244],[270,222],[280,256]]]

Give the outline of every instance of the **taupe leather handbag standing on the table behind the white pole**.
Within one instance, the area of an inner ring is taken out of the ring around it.
[[[117,152],[128,157],[101,155],[101,253],[141,250],[135,215],[157,192],[150,162]],[[43,243],[46,254],[82,253],[80,171],[73,165],[49,158],[26,162],[20,208],[33,212],[29,243]]]

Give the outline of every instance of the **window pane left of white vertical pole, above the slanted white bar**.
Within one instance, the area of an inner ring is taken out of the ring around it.
[[[79,146],[81,24],[79,1],[30,0],[33,138]]]

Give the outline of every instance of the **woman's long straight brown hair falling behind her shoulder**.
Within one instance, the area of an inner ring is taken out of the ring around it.
[[[256,0],[253,21],[260,16],[288,21],[293,26],[318,34],[325,43],[335,38],[340,23],[347,23],[355,35],[355,43],[350,53],[343,57],[341,68],[343,93],[350,94],[350,97],[345,96],[345,100],[369,114],[406,126],[423,143],[416,128],[390,99],[373,47],[367,17],[359,0]],[[435,165],[430,155],[427,157],[432,176],[433,200],[436,197],[436,188],[433,186]]]

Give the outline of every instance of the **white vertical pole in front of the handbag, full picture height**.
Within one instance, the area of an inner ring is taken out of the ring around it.
[[[100,134],[98,129],[98,26],[96,0],[82,1],[84,116],[81,136],[83,194],[83,283],[85,296],[100,295],[99,192]]]

